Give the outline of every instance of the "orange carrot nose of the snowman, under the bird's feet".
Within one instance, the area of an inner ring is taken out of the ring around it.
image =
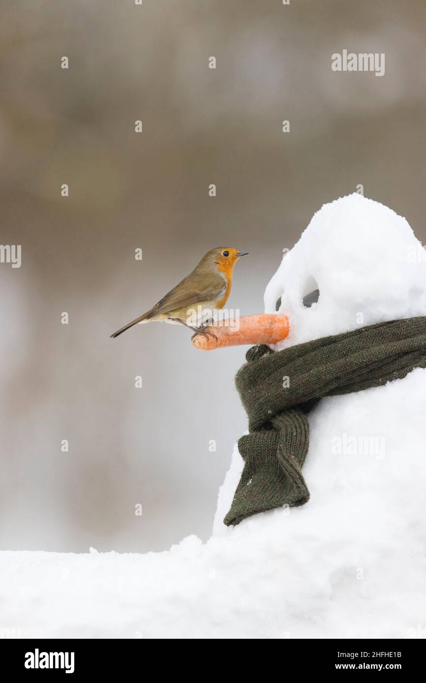
[[[242,344],[276,344],[289,334],[289,318],[282,313],[258,313],[216,322],[205,331],[207,337],[196,335],[192,341],[195,348],[203,351]]]

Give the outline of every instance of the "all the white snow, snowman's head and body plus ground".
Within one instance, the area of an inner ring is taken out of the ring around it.
[[[355,329],[358,313],[361,324],[423,314],[418,245],[376,202],[325,205],[265,293],[267,311],[282,295],[284,345]],[[314,281],[319,301],[304,309]],[[3,551],[0,626],[22,637],[415,637],[426,609],[425,413],[421,369],[325,398],[310,415],[310,501],[234,528],[222,518],[242,468],[235,448],[206,544],[191,535],[145,555]]]

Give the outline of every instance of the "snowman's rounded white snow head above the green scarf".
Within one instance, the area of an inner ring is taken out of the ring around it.
[[[274,346],[426,315],[426,251],[410,225],[354,193],[325,204],[284,254],[267,285],[265,312],[289,316]]]

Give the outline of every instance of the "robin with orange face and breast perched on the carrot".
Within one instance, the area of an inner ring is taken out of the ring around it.
[[[155,306],[114,332],[111,337],[118,337],[138,322],[155,321],[185,325],[194,332],[191,339],[198,334],[215,337],[204,328],[211,320],[213,311],[222,309],[228,301],[232,272],[241,256],[248,256],[248,251],[238,251],[232,247],[215,247],[207,251],[194,270]]]

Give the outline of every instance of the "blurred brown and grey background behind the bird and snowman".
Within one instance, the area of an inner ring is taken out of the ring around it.
[[[246,427],[247,349],[197,352],[161,324],[109,335],[217,245],[250,251],[229,307],[262,311],[282,249],[358,184],[426,241],[425,14],[424,0],[1,0],[1,243],[22,245],[22,266],[0,264],[0,548],[209,537]],[[344,48],[385,53],[385,75],[332,72]]]

